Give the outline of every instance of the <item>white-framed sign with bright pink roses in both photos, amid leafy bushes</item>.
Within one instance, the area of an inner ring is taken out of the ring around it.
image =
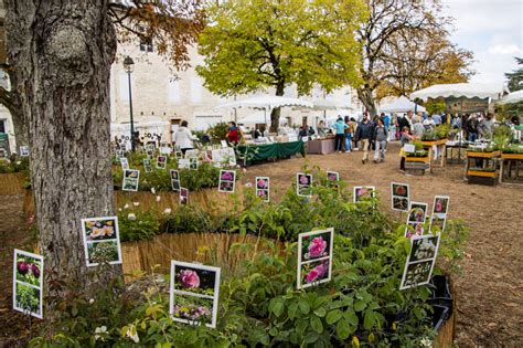
[[[330,282],[333,243],[334,229],[298,235],[298,289]]]

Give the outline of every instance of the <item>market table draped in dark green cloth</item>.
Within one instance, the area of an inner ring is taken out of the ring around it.
[[[238,145],[236,150],[239,158],[243,158],[245,166],[269,159],[290,158],[296,154],[306,156],[305,144],[301,140],[265,145]]]

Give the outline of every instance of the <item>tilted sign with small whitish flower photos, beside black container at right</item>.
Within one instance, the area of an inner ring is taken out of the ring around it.
[[[438,255],[440,234],[415,235],[410,239],[399,289],[428,284]]]

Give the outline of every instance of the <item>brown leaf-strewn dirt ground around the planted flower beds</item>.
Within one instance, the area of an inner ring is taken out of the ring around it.
[[[375,186],[388,200],[391,181],[410,184],[410,198],[428,202],[435,194],[450,196],[450,219],[470,226],[462,261],[455,277],[458,297],[457,342],[460,347],[523,346],[523,187],[476,186],[463,181],[460,165],[437,168],[433,175],[405,176],[398,171],[398,146],[391,144],[383,164],[362,165],[361,151],[310,155],[249,167],[243,182],[269,176],[271,197],[285,192],[297,171],[308,164],[339,171],[349,186]],[[26,242],[22,197],[0,196],[0,347],[17,346],[13,337],[28,337],[28,321],[11,308],[12,247]],[[20,342],[20,341],[19,341]]]

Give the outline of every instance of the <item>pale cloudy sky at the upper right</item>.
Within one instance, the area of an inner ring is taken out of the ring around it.
[[[523,0],[441,0],[456,19],[451,40],[474,53],[472,82],[504,82],[523,57]]]

